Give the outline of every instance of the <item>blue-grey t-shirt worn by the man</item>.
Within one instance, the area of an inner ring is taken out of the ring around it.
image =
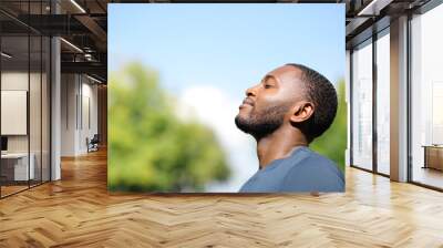
[[[332,161],[299,146],[289,157],[275,159],[259,169],[239,192],[344,192],[344,176]]]

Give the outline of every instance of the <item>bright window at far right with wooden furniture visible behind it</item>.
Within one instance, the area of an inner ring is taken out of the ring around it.
[[[443,188],[443,4],[411,20],[412,180]]]

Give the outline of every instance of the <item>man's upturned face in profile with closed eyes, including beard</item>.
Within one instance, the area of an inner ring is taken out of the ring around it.
[[[260,138],[289,123],[297,103],[303,100],[301,73],[297,68],[284,65],[249,87],[235,118],[237,127]]]

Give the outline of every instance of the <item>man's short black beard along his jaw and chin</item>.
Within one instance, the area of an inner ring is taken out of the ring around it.
[[[253,108],[247,117],[238,114],[235,123],[240,131],[253,135],[258,141],[274,133],[284,124],[285,114],[289,107],[290,105],[274,105],[259,113]]]

